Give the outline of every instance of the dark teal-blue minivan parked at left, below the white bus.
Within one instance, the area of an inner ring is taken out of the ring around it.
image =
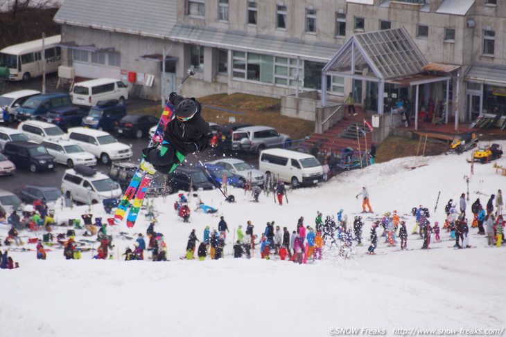
[[[21,107],[17,108],[15,118],[19,121],[27,119],[40,119],[51,109],[70,107],[72,101],[68,93],[44,93],[35,95],[26,100]]]

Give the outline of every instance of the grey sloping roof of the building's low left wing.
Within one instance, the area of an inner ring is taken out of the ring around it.
[[[177,21],[176,15],[177,1],[66,0],[53,20],[57,24],[167,37]]]

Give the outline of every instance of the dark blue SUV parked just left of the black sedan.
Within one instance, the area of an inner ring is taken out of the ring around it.
[[[82,118],[81,125],[110,132],[114,130],[119,120],[125,116],[125,104],[119,104],[118,100],[104,100],[89,109],[88,116]]]

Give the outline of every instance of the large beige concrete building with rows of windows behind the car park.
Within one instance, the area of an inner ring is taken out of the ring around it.
[[[506,109],[505,17],[497,0],[66,0],[55,22],[65,65],[125,80],[132,95],[159,99],[192,67],[188,95],[317,91],[318,101],[324,82],[329,102],[353,91],[366,105],[366,84],[322,81],[322,69],[352,36],[403,27],[428,63],[451,66],[449,84],[422,88],[420,104],[448,97],[470,120]],[[392,83],[385,93],[388,104],[413,94]]]

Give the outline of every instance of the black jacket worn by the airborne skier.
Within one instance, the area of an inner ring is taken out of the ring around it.
[[[176,95],[169,98],[169,101],[171,104],[175,105],[175,103],[179,103],[183,99],[184,98],[181,96]],[[194,100],[198,107],[198,111],[195,113],[195,116],[186,122],[181,122],[177,118],[173,118],[167,123],[164,134],[164,140],[171,143],[178,152],[184,154],[185,156],[190,153],[189,148],[191,148],[192,143],[196,144],[198,147],[195,147],[195,151],[198,150],[199,152],[202,152],[209,144],[209,141],[213,138],[213,134],[209,128],[209,123],[206,122],[200,115],[202,111],[200,103],[195,100],[195,98],[190,99]]]

